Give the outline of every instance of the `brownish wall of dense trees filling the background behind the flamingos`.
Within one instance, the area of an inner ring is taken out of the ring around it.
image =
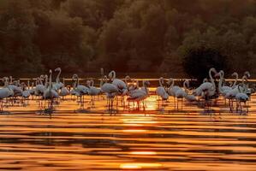
[[[184,74],[184,58],[202,47],[230,72],[256,70],[253,0],[0,0],[0,24],[1,73]]]

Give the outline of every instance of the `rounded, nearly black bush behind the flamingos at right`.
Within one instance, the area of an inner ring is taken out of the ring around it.
[[[182,65],[190,77],[198,80],[207,78],[210,68],[228,70],[227,57],[218,50],[205,47],[188,50]]]

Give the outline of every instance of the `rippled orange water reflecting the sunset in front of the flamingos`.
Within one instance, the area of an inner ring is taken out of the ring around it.
[[[51,115],[38,103],[0,115],[0,169],[13,170],[255,170],[256,97],[249,113],[230,113],[222,99],[210,111],[156,97],[146,108],[105,112],[99,97],[86,112],[65,100]],[[119,103],[120,104],[120,103]],[[88,109],[87,109],[88,108]]]

